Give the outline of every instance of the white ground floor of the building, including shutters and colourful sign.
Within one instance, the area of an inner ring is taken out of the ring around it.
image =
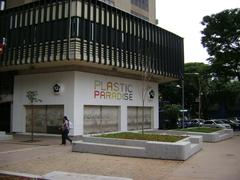
[[[56,84],[60,86],[59,93],[54,93]],[[54,126],[61,124],[63,115],[72,120],[73,135],[140,129],[140,122],[136,126],[142,117],[142,85],[139,80],[79,71],[16,76],[12,130],[31,129],[28,122],[31,110],[26,98],[29,90],[37,91],[42,100],[34,106],[38,132],[51,133]],[[148,83],[147,87],[145,126],[158,128],[158,84]],[[150,91],[155,93],[151,98]]]

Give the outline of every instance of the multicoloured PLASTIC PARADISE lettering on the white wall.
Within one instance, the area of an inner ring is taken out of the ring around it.
[[[133,100],[133,86],[119,82],[94,81],[95,99]]]

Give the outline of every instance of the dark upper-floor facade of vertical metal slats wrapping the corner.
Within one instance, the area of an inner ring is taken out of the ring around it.
[[[97,0],[37,1],[0,12],[0,67],[80,60],[179,78],[183,39]]]

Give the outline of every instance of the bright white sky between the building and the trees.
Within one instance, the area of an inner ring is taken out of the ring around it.
[[[240,0],[156,0],[156,18],[158,26],[184,38],[185,63],[207,63],[202,18],[233,8],[240,8]]]

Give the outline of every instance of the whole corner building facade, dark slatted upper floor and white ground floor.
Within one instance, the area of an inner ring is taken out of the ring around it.
[[[183,39],[94,0],[36,1],[0,12],[1,111],[12,132],[74,136],[158,128],[158,84],[183,72]],[[4,42],[4,43],[3,43]],[[41,102],[33,106],[27,92]],[[8,126],[6,126],[6,124]]]

